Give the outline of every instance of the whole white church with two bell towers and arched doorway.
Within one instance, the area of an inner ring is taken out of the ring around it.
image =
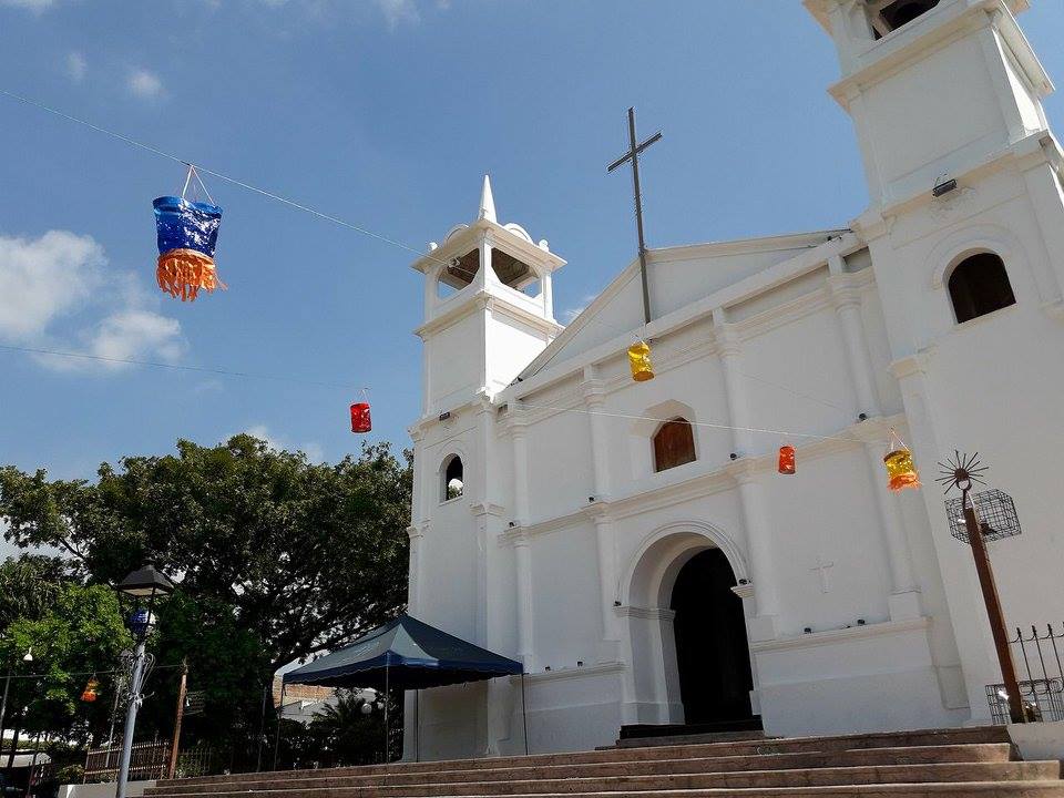
[[[858,218],[651,249],[646,327],[638,260],[560,325],[565,262],[487,181],[413,264],[409,612],[524,663],[533,753],[633,724],[989,722],[1001,673],[934,482],[954,449],[1022,522],[990,544],[1007,624],[1064,618],[1064,153],[1027,0],[805,4],[838,50]],[[919,490],[888,490],[891,429]],[[407,754],[523,753],[520,684],[422,690]]]

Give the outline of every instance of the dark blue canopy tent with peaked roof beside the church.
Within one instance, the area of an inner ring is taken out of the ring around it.
[[[366,633],[349,646],[289,671],[282,682],[282,705],[289,684],[323,687],[374,687],[385,692],[388,734],[389,692],[481,682],[498,676],[521,676],[521,713],[524,716],[524,666],[515,659],[481,648],[434,626],[402,614]],[[417,696],[418,693],[415,693]],[[417,703],[416,703],[417,707]],[[277,725],[278,740],[280,724]],[[420,734],[417,735],[420,747]],[[528,724],[524,724],[528,754]],[[386,747],[386,758],[388,755]],[[419,751],[420,758],[420,751]],[[275,745],[276,766],[276,745]]]

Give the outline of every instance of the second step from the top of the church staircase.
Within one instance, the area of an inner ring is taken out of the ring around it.
[[[741,773],[746,770],[795,770],[826,767],[876,767],[891,765],[1007,763],[1012,747],[1006,743],[909,748],[858,748],[842,751],[763,754],[755,756],[652,759],[565,765],[524,765],[471,770],[411,771],[396,766],[389,773],[366,768],[304,770],[301,778],[277,779],[272,774],[231,776],[228,780],[161,781],[149,796],[226,792],[235,790],[314,789],[375,784],[416,785],[457,781],[501,781],[505,779],[608,778],[618,776],[663,776],[669,774]],[[492,760],[489,760],[492,761]]]

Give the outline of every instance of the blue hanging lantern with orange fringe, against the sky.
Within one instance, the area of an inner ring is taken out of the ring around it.
[[[182,301],[193,301],[200,289],[225,288],[214,266],[222,208],[212,203],[163,196],[154,203],[158,233],[158,287]]]

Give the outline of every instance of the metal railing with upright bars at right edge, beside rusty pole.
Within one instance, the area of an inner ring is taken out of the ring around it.
[[[1061,649],[1064,648],[1064,631],[1057,632],[1046,624],[1045,632],[1032,626],[1030,634],[1016,627],[1016,636],[1009,641],[1016,663],[1020,696],[1029,722],[1064,720],[1064,667]],[[995,724],[1010,723],[1009,694],[1003,684],[986,685],[986,700]]]

